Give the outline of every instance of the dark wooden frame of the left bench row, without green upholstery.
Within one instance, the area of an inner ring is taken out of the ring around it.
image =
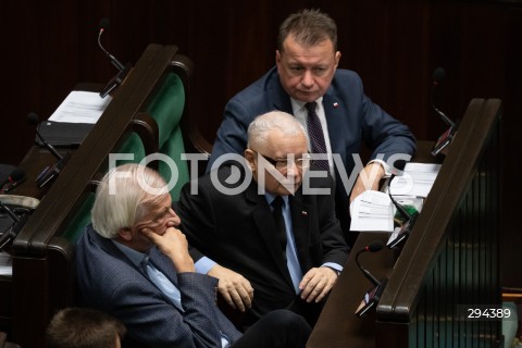
[[[38,174],[57,162],[46,148],[33,147],[18,164],[27,179],[10,194],[35,197],[40,203],[12,245],[13,275],[0,276],[0,331],[8,332],[11,340],[44,348],[45,330],[55,310],[74,304],[74,245],[62,232],[91,194],[91,181],[107,171],[109,153],[129,133],[139,136],[146,153],[158,151],[158,124],[148,114],[149,103],[170,73],[182,82],[186,101],[191,70],[190,60],[178,54],[177,47],[150,45],[82,146],[58,148],[74,153],[52,185],[40,189],[35,184]],[[190,125],[186,109],[184,104],[182,127]]]

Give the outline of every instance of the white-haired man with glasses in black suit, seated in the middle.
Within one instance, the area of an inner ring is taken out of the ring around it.
[[[348,256],[333,179],[308,175],[304,130],[281,111],[258,116],[244,158],[235,157],[182,190],[196,269],[228,274],[219,290],[246,312],[244,326],[283,308],[313,325]]]

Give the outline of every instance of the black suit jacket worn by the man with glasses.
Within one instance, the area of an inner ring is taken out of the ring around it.
[[[224,186],[233,166],[222,166],[217,178]],[[241,174],[243,171],[240,171]],[[244,177],[244,175],[241,176]],[[314,178],[311,187],[332,188],[332,178]],[[286,260],[277,238],[275,221],[258,185],[236,195],[226,195],[213,185],[211,176],[197,179],[182,189],[177,213],[189,244],[219,264],[245,276],[254,289],[249,315],[259,319],[275,309],[287,308],[296,299]],[[299,263],[303,274],[324,262],[345,265],[348,247],[334,214],[332,195],[304,195],[302,188],[289,197]],[[192,253],[195,261],[201,253]]]

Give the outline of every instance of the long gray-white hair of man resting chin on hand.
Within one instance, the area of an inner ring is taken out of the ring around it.
[[[121,228],[140,221],[165,195],[169,195],[165,181],[157,171],[135,163],[116,166],[98,185],[91,210],[92,227],[100,236],[114,238]]]

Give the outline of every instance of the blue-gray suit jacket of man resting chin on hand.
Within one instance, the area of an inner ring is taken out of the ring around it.
[[[240,336],[215,304],[217,279],[176,274],[172,261],[156,247],[149,256],[179,288],[185,312],[171,304],[144,271],[91,225],[76,246],[80,304],[119,318],[127,327],[124,347],[221,347],[220,330],[233,341]]]

